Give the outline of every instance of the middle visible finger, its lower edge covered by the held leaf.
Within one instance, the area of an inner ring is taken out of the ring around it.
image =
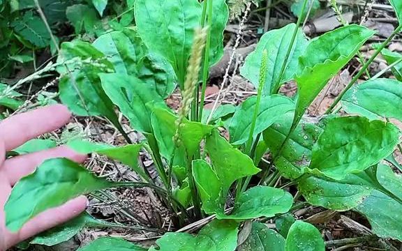
[[[84,162],[87,155],[76,153],[67,146],[59,146],[54,149],[29,153],[6,160],[3,164],[3,172],[8,178],[10,185],[14,185],[20,178],[35,171],[36,167],[50,158],[68,158],[75,162]]]

